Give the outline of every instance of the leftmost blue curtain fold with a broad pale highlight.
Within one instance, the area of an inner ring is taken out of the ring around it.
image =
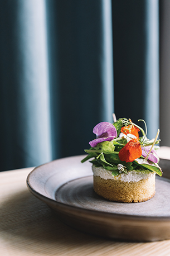
[[[41,0],[0,3],[1,170],[51,157],[46,10]]]

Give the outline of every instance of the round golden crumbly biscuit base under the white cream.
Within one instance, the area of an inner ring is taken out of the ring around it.
[[[103,179],[93,176],[94,191],[110,201],[144,202],[155,194],[155,175],[138,182],[124,182],[113,179]]]

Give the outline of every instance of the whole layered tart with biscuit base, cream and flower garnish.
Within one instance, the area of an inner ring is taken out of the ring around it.
[[[144,120],[138,120],[143,121]],[[113,124],[100,122],[93,129],[96,139],[90,141],[88,155],[94,174],[94,191],[111,201],[143,202],[156,192],[156,174],[162,176],[156,138],[147,139],[147,126],[134,124],[127,118],[119,118]],[[141,134],[141,136],[139,136]]]

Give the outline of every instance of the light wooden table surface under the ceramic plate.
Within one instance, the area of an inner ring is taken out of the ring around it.
[[[0,255],[170,255],[170,240],[125,243],[97,238],[61,223],[27,189],[33,168],[0,173]]]

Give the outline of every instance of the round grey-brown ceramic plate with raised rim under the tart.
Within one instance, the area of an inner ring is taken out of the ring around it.
[[[163,177],[156,195],[140,203],[110,202],[93,191],[91,163],[84,155],[35,168],[27,177],[30,192],[65,224],[86,233],[127,241],[170,239],[170,160],[161,159]]]

